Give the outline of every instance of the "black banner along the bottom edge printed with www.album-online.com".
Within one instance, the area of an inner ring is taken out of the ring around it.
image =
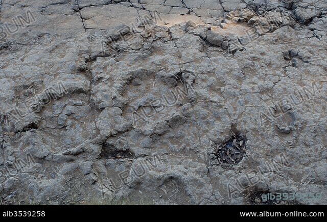
[[[155,219],[169,215],[186,218],[213,216],[220,220],[288,219],[325,220],[326,206],[0,206],[0,221],[44,219]]]

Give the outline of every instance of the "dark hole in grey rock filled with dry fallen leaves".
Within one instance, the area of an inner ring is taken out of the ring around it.
[[[224,169],[238,164],[246,155],[246,137],[231,133],[228,140],[215,144],[215,155]]]

